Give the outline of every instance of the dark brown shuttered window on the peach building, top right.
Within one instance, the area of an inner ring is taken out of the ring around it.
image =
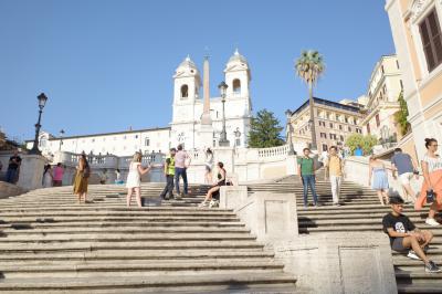
[[[419,24],[423,52],[425,53],[429,72],[442,63],[442,35],[439,19],[433,9]]]

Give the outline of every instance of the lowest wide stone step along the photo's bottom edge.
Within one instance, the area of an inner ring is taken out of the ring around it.
[[[29,291],[30,293],[51,293],[65,291],[69,293],[166,293],[188,291],[189,293],[208,293],[213,291],[253,291],[282,287],[295,290],[295,279],[284,273],[242,272],[241,274],[206,274],[206,275],[159,275],[127,276],[106,279],[11,279],[0,283],[0,291]],[[14,293],[12,292],[12,293]],[[253,291],[254,292],[254,291]]]

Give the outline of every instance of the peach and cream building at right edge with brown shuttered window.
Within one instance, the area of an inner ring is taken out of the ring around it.
[[[424,138],[442,141],[442,1],[386,2],[412,128],[401,146],[422,158]]]

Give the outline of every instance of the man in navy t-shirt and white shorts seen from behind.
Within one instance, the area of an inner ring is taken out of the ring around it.
[[[397,179],[396,172],[399,175],[400,183],[402,185],[404,196],[402,197],[406,202],[415,202],[415,193],[411,188],[410,180],[415,176],[419,179],[418,166],[410,155],[403,154],[401,148],[394,149],[394,155],[391,157],[391,167],[393,178]]]

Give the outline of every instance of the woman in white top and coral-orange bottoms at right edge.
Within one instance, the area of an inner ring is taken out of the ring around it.
[[[421,210],[428,202],[428,197],[435,195],[431,203],[427,224],[439,225],[434,219],[435,213],[442,210],[442,157],[436,154],[438,141],[435,139],[425,139],[427,154],[421,161],[423,171],[423,183],[421,195],[414,203],[417,210]]]

